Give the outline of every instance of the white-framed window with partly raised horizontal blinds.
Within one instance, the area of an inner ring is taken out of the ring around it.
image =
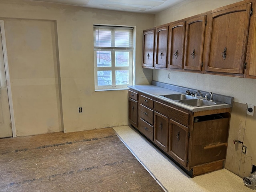
[[[133,28],[94,25],[95,90],[132,85]]]

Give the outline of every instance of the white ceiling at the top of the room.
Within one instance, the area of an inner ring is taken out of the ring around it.
[[[156,14],[185,0],[33,0],[87,8]]]

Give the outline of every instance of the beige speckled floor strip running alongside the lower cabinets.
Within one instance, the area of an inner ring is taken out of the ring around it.
[[[168,192],[256,192],[242,178],[222,169],[190,178],[130,126],[113,127],[120,139]]]

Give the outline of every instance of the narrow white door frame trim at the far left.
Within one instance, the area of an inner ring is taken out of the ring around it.
[[[13,102],[12,102],[12,89],[11,89],[11,84],[10,84],[10,72],[9,72],[9,65],[8,65],[7,46],[6,46],[6,38],[5,38],[5,30],[4,30],[4,20],[0,20],[0,32],[2,35],[4,68],[5,68],[6,85],[7,85],[7,92],[8,92],[11,122],[12,122],[12,136],[17,137],[15,119],[14,119]]]

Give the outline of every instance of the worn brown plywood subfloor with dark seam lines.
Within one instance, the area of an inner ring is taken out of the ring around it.
[[[164,191],[112,128],[0,139],[0,191]]]

